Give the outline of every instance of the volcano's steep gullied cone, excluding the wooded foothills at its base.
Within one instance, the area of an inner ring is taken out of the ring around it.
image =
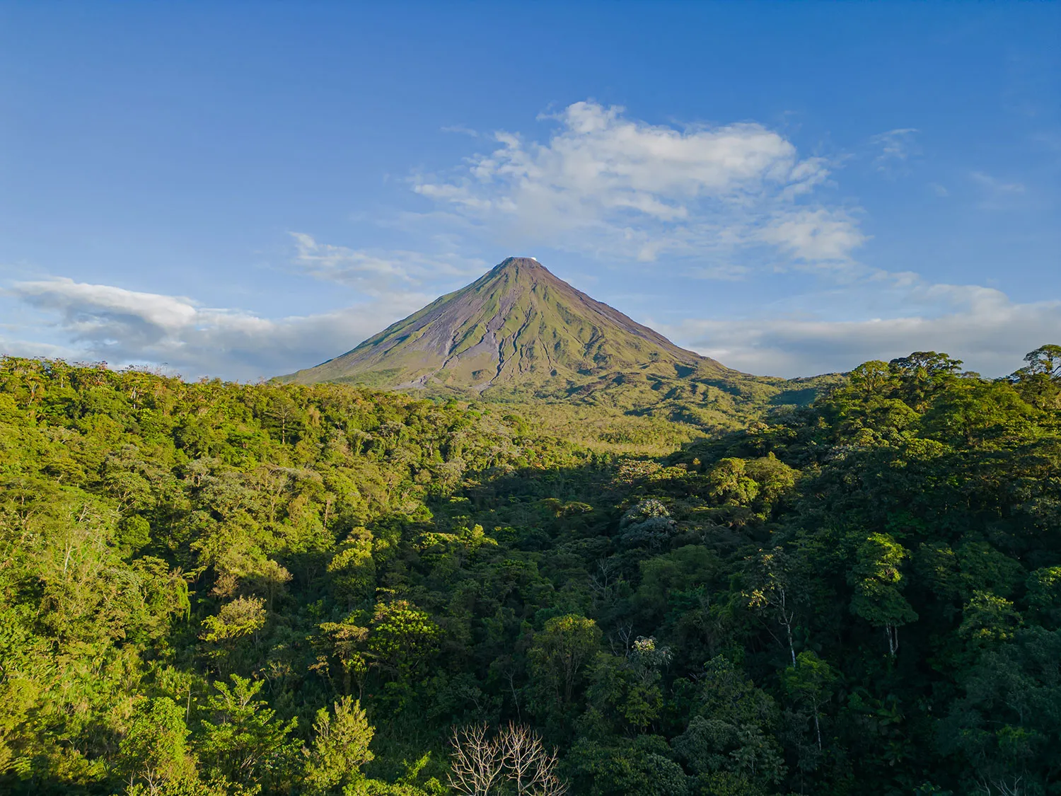
[[[616,380],[734,371],[510,257],[352,351],[284,381],[560,396]]]

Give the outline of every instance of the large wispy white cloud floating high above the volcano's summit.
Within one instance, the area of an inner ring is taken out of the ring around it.
[[[849,213],[810,202],[827,161],[763,125],[676,129],[593,102],[546,118],[546,143],[497,133],[492,152],[414,190],[509,242],[643,261],[764,243],[842,261],[865,240]]]

